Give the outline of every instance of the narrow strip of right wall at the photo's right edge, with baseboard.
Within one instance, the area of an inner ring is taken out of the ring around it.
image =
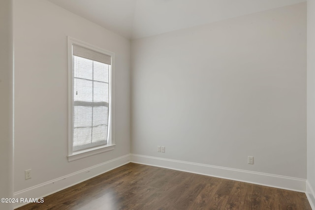
[[[315,209],[315,1],[307,1],[307,195]]]

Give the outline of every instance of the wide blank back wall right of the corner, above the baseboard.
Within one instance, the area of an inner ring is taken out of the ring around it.
[[[131,55],[131,153],[306,179],[305,2],[136,39]]]

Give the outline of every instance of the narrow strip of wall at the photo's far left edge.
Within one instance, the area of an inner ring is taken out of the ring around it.
[[[0,198],[13,197],[12,0],[0,1]],[[0,203],[1,210],[12,209]]]

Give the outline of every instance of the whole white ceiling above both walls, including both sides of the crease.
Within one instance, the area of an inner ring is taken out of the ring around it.
[[[49,1],[128,39],[136,39],[306,0]]]

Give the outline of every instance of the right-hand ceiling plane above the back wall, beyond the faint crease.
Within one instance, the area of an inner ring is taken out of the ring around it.
[[[213,23],[303,1],[305,0],[137,0],[132,38]]]

